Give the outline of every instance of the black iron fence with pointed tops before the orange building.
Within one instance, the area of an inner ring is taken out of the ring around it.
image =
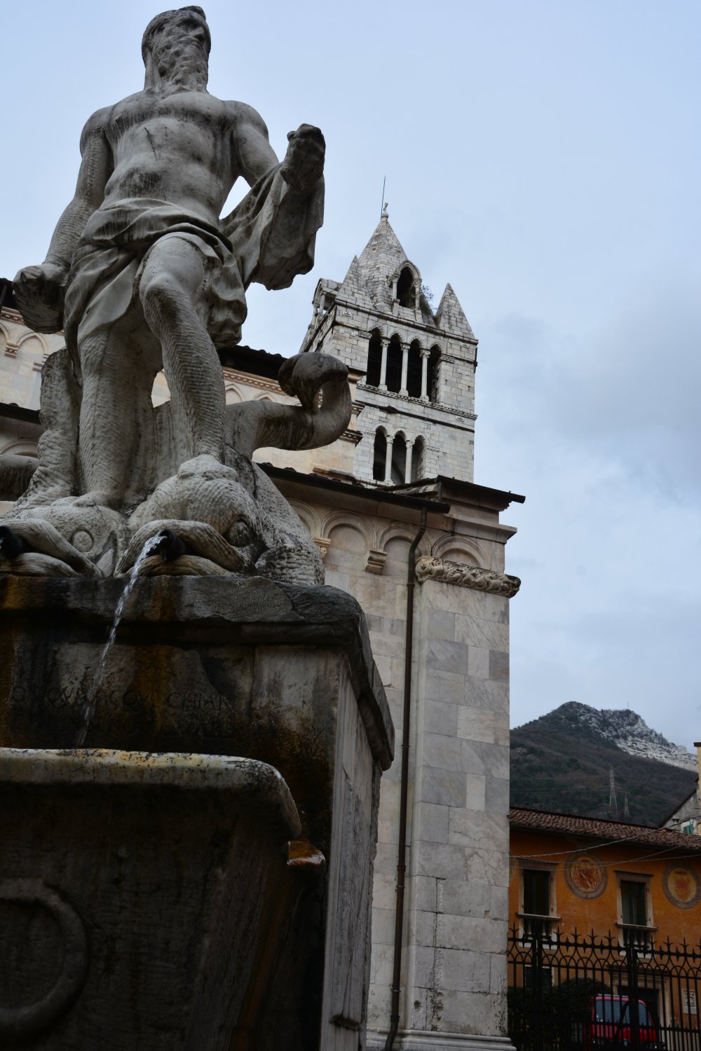
[[[650,930],[509,935],[509,1036],[517,1051],[701,1051],[701,944]]]

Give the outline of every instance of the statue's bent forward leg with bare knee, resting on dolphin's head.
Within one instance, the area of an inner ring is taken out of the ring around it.
[[[205,265],[191,241],[169,235],[146,256],[140,295],[149,328],[161,342],[176,426],[191,456],[224,461],[225,394],[222,366],[197,305]]]

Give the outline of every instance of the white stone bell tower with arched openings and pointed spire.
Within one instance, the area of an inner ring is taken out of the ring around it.
[[[343,282],[316,286],[301,350],[365,372],[354,474],[366,483],[473,480],[477,341],[450,285],[435,313],[431,298],[387,206]]]

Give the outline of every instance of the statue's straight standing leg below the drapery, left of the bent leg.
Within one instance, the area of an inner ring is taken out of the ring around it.
[[[152,347],[140,345],[130,326],[105,326],[82,338],[79,330],[78,341],[83,377],[80,502],[123,510],[143,498],[149,465],[142,459],[153,445],[144,430],[153,426],[151,390],[159,360]]]

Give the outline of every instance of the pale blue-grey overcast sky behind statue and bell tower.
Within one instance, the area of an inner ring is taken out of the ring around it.
[[[0,275],[43,260],[91,111],[138,90],[158,2],[3,5]],[[701,4],[205,4],[212,94],[282,156],[327,141],[316,265],[254,290],[244,342],[296,352],[318,277],[390,221],[478,336],[475,480],[523,493],[512,724],[630,704],[701,740]],[[243,187],[241,193],[242,195]],[[233,200],[233,199],[232,199]]]

